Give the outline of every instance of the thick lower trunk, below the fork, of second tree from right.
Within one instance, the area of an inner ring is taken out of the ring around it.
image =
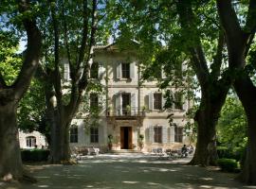
[[[212,90],[202,93],[200,107],[194,116],[197,124],[197,143],[190,164],[216,165],[216,125],[229,91],[229,86],[226,87],[218,90],[214,88],[214,93]]]

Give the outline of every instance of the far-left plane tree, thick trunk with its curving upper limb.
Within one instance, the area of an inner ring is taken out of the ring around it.
[[[3,3],[1,4],[5,5],[5,2]],[[41,49],[41,33],[36,26],[34,15],[31,14],[31,5],[26,0],[21,0],[18,1],[18,8],[18,16],[27,33],[27,50],[21,70],[12,84],[9,85],[0,72],[0,178],[3,180],[22,180],[25,176],[20,155],[16,113],[18,103],[26,93],[38,66]],[[2,11],[1,14],[6,12]],[[4,40],[3,42],[5,43]]]

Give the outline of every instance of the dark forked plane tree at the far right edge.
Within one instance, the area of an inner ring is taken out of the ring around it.
[[[247,8],[247,13],[238,17],[237,11],[243,6]],[[254,70],[255,73],[255,48],[251,48],[251,44],[255,43],[253,39],[256,31],[256,1],[250,0],[239,4],[231,0],[217,0],[217,8],[227,39],[229,68],[234,76],[234,89],[247,114],[247,158],[241,179],[256,184],[256,87],[248,72]],[[245,19],[246,24],[242,24],[240,19]],[[251,55],[251,62],[247,62],[248,52]]]

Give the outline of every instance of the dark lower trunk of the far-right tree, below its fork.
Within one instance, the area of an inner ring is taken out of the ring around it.
[[[240,179],[248,184],[256,184],[256,87],[247,75],[236,78],[235,91],[247,114],[247,158]]]

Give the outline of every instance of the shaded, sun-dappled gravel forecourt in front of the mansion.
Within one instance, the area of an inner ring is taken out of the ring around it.
[[[256,188],[234,180],[234,174],[189,166],[178,161],[141,155],[100,155],[87,157],[78,165],[33,165],[36,184],[4,184],[5,189],[86,188]]]

